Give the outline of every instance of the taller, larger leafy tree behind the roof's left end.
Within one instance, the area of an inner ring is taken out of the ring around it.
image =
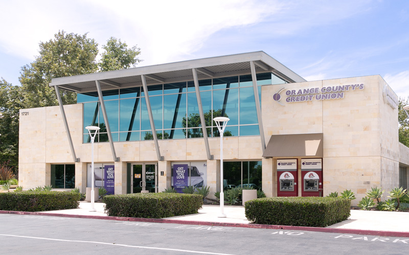
[[[54,40],[40,42],[39,46],[40,55],[21,68],[19,78],[27,108],[58,105],[55,90],[49,86],[51,79],[98,70],[98,43],[87,38],[87,33],[77,35],[59,31]],[[64,105],[77,103],[76,93],[63,90],[60,93]]]

